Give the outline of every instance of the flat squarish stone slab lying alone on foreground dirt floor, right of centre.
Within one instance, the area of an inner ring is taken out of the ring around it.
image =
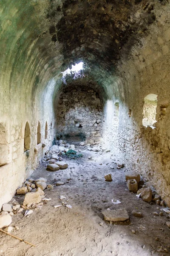
[[[106,221],[125,221],[129,219],[129,215],[125,208],[119,208],[116,210],[106,210],[102,212]]]

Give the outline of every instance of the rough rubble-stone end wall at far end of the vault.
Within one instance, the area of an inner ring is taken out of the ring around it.
[[[63,139],[96,144],[102,137],[102,103],[91,87],[69,86],[57,105],[57,132]]]

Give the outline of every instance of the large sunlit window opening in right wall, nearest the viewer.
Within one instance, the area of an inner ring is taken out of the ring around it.
[[[157,96],[156,94],[150,93],[144,97],[143,113],[142,113],[142,125],[145,127],[153,127],[156,122],[156,107],[157,107]]]

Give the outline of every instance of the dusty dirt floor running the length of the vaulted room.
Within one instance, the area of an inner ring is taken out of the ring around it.
[[[169,252],[170,229],[166,226],[168,216],[155,216],[162,207],[149,204],[130,193],[125,182],[126,166],[116,169],[118,160],[111,152],[93,152],[81,147],[83,157],[78,160],[68,159],[68,169],[49,172],[41,164],[31,176],[44,177],[48,183],[66,182],[54,189],[45,189],[45,197],[52,198],[23,218],[23,212],[12,216],[11,226],[17,226],[14,234],[36,245],[31,247],[10,236],[0,233],[0,256],[149,256],[169,255],[159,253],[158,246]],[[92,157],[89,160],[88,157]],[[110,166],[113,165],[114,169]],[[111,173],[113,181],[106,182],[104,176]],[[54,209],[61,204],[60,195],[69,199],[68,204]],[[24,196],[14,197],[22,202]],[[118,199],[121,204],[113,204],[111,199]],[[159,209],[157,209],[159,207]],[[130,222],[118,225],[103,220],[102,211],[125,208]],[[131,215],[132,210],[139,210],[144,218]],[[159,228],[163,228],[162,230]],[[136,233],[133,234],[132,230]],[[155,239],[158,238],[156,241]]]

